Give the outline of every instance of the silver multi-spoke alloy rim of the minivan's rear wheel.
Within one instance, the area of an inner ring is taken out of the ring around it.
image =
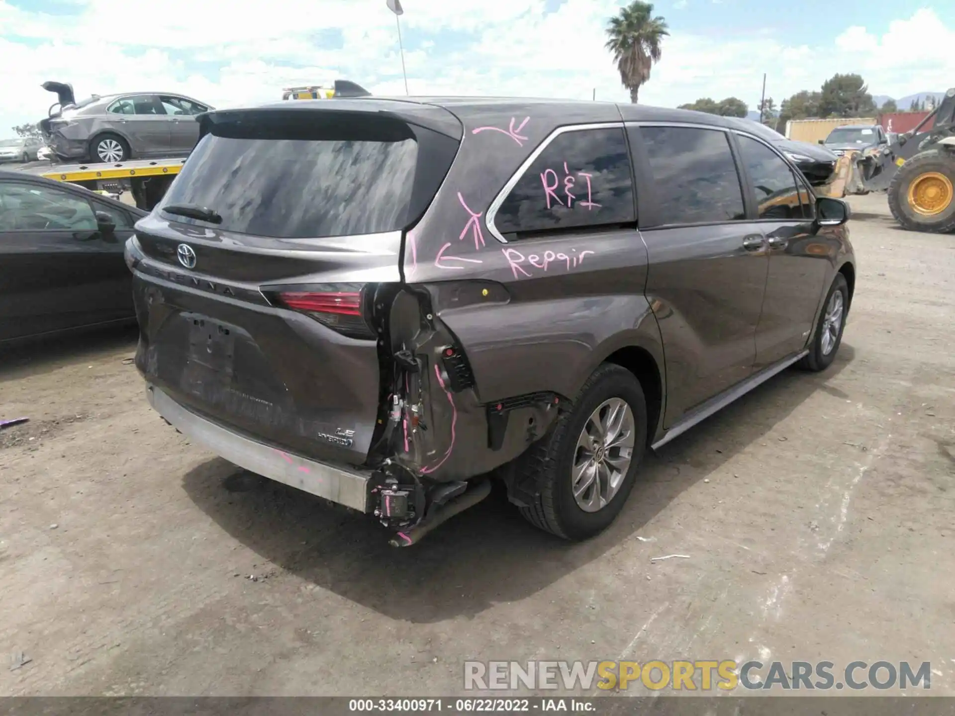
[[[584,512],[604,508],[620,491],[633,459],[636,426],[622,398],[610,398],[590,413],[577,440],[571,487]]]

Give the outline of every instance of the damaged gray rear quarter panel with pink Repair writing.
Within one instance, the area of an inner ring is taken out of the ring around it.
[[[659,329],[644,295],[647,249],[635,226],[503,243],[486,223],[492,201],[545,137],[562,125],[621,122],[617,108],[582,103],[568,113],[566,103],[521,102],[449,109],[464,124],[464,139],[408,233],[403,261],[434,335],[419,335],[414,348],[427,364],[420,390],[428,430],[413,431],[407,451],[402,434],[398,453],[437,480],[481,474],[522,453],[619,348],[645,348],[663,374]],[[449,344],[462,348],[473,373],[467,390],[449,386],[440,354]],[[535,405],[511,411],[492,448],[488,407],[528,395]],[[547,405],[548,395],[558,403]]]

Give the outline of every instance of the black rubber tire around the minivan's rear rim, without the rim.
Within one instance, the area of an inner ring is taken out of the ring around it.
[[[574,500],[571,483],[577,440],[590,414],[610,398],[623,399],[633,413],[633,453],[617,494],[597,512],[584,512]],[[541,485],[541,494],[529,507],[521,507],[520,514],[541,530],[564,539],[586,539],[603,532],[623,509],[646,446],[647,401],[640,381],[627,369],[604,364],[584,383],[573,410],[564,413],[518,458],[515,469],[527,478],[533,473]]]

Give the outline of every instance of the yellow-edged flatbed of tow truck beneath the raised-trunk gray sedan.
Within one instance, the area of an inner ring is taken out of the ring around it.
[[[182,157],[134,159],[116,164],[45,164],[23,167],[18,171],[54,181],[69,181],[95,192],[129,192],[138,208],[152,211],[184,163]]]

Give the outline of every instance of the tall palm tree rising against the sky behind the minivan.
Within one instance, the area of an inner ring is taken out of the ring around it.
[[[633,0],[620,14],[611,17],[606,26],[606,49],[613,53],[620,70],[620,81],[630,91],[630,101],[637,101],[640,86],[650,78],[650,68],[660,61],[660,41],[667,32],[667,21],[652,16],[651,3]]]

